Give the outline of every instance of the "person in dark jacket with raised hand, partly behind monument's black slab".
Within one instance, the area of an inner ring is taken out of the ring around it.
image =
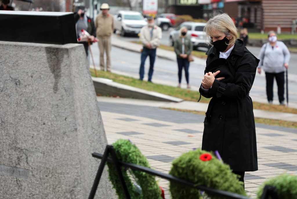
[[[80,33],[81,30],[86,30],[90,35],[91,41],[94,41],[95,37],[96,37],[96,30],[95,30],[95,26],[94,26],[94,21],[86,16],[85,11],[82,9],[79,9],[77,13],[74,14],[74,19],[75,19],[75,26],[76,26],[76,34],[77,34],[77,38],[80,37]],[[86,51],[86,55],[88,56],[88,51],[89,51],[89,42],[88,41],[81,41],[78,42],[83,44],[85,51]]]

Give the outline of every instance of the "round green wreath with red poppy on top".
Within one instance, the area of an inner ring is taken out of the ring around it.
[[[211,187],[217,190],[225,190],[241,195],[246,195],[243,183],[238,181],[229,165],[222,164],[212,153],[196,149],[184,153],[176,158],[169,174],[185,179],[196,185]],[[172,199],[197,199],[201,197],[200,190],[170,182]],[[211,196],[211,199],[223,197]]]

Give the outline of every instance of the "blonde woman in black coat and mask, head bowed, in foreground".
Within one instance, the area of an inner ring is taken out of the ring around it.
[[[255,119],[249,97],[259,60],[237,39],[228,14],[212,17],[204,28],[211,48],[200,93],[211,98],[204,121],[202,149],[218,151],[244,182],[258,170]]]

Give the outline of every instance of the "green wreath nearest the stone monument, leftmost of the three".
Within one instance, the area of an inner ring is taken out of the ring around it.
[[[112,144],[113,148],[116,151],[116,156],[119,161],[138,164],[140,166],[145,166],[150,168],[149,162],[146,157],[140,152],[140,150],[132,144],[129,140],[119,139]],[[125,199],[124,192],[122,190],[121,184],[119,183],[119,177],[116,173],[116,169],[113,166],[113,163],[108,163],[108,173],[110,182],[113,184],[113,188],[116,189],[116,194],[119,196],[119,199]],[[124,180],[127,185],[131,199],[162,199],[161,190],[157,185],[155,177],[153,175],[147,174],[145,172],[134,171],[129,169],[129,173],[132,178],[135,179],[136,183],[140,185],[142,189],[142,194],[136,192],[134,185],[126,168],[121,167]]]

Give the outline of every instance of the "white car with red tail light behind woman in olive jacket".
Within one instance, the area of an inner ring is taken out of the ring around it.
[[[179,29],[183,26],[186,26],[187,36],[191,38],[193,43],[193,49],[197,47],[207,47],[206,44],[206,34],[203,32],[203,28],[206,23],[198,23],[198,22],[183,22],[175,30],[170,32],[169,42],[171,46],[174,46],[174,41],[179,37]]]

